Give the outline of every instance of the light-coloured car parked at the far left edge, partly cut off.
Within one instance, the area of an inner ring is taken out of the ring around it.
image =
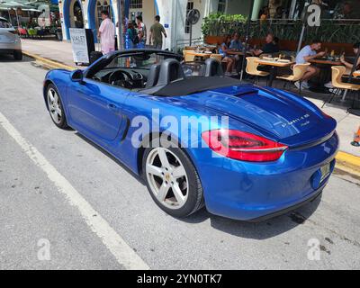
[[[12,24],[2,17],[0,17],[0,54],[13,54],[15,60],[23,59],[22,41]]]

